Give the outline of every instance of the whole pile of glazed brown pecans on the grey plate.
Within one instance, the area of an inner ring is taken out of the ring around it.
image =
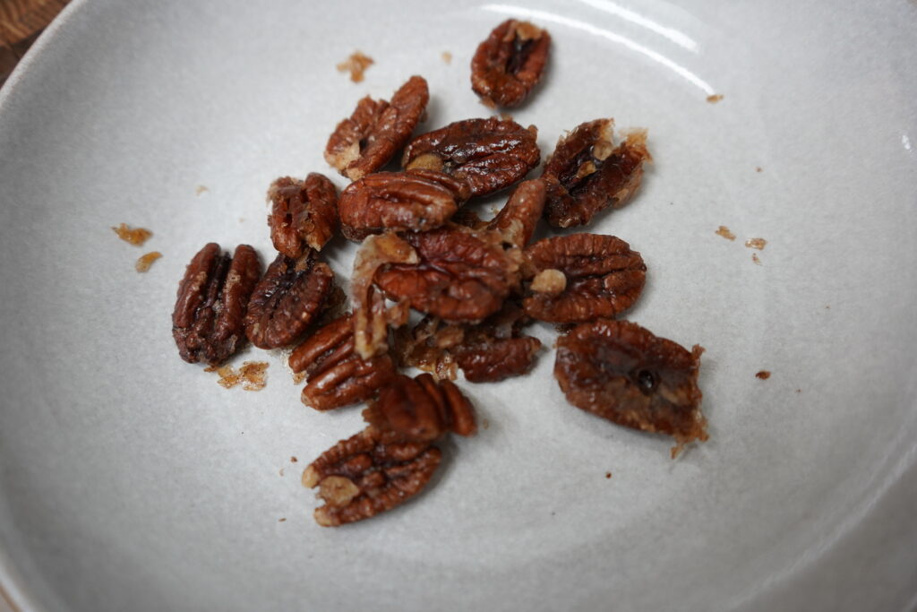
[[[489,106],[520,104],[541,78],[550,37],[509,19],[481,43],[471,83]],[[467,119],[412,139],[425,115],[424,78],[391,102],[359,101],[328,139],[326,161],[352,181],[337,195],[319,173],[283,177],[268,192],[278,254],[260,274],[258,254],[230,257],[215,243],[187,267],[172,333],[187,362],[225,362],[246,342],[295,347],[303,402],[332,410],[366,402],[367,428],[312,462],[303,483],[326,502],[323,526],[402,504],[430,480],[436,440],[470,436],[475,417],[452,382],[527,373],[541,348],[532,321],[561,326],[555,376],[569,402],[615,423],[668,434],[678,446],[706,440],[697,375],[702,349],[687,351],[616,317],[635,303],[646,265],[624,240],[565,234],[624,206],[651,161],[646,131],[613,137],[613,120],[581,124],[558,141],[539,178],[536,128],[511,118]],[[400,172],[381,168],[402,152]],[[515,185],[483,221],[462,206]],[[351,311],[333,317],[334,274],[321,250],[335,233],[361,241],[350,278]],[[424,317],[408,325],[410,311]],[[330,319],[330,320],[329,320]],[[399,368],[425,371],[410,378]]]

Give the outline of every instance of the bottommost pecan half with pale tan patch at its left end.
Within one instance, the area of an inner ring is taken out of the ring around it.
[[[315,522],[337,527],[400,506],[423,490],[440,458],[429,442],[405,441],[371,426],[337,442],[303,473],[304,486],[318,486],[325,500],[315,508]]]

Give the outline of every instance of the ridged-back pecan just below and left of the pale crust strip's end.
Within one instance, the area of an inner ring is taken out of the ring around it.
[[[294,373],[305,373],[303,403],[316,410],[356,404],[375,395],[395,376],[388,355],[360,359],[354,352],[349,314],[315,331],[290,355]]]

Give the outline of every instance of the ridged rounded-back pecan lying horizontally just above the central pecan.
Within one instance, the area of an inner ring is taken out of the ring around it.
[[[467,184],[443,172],[376,172],[341,193],[342,232],[359,241],[385,230],[438,228],[468,196]]]

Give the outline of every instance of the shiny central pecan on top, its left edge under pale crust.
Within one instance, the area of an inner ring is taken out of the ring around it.
[[[495,232],[454,226],[404,239],[419,261],[381,266],[376,285],[390,299],[447,321],[478,321],[492,315],[519,283],[519,251],[503,250]]]

